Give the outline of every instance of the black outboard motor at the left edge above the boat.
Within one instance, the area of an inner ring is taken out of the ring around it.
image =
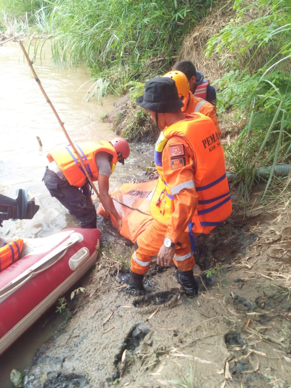
[[[3,220],[31,220],[40,207],[35,201],[28,201],[28,190],[16,191],[16,199],[0,194],[0,226]]]

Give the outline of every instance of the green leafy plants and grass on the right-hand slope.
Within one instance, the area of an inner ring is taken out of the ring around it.
[[[237,0],[235,7],[236,20],[211,37],[206,54],[219,53],[228,70],[217,81],[223,90],[219,112],[236,109],[244,123],[226,156],[236,171],[238,192],[248,200],[257,166],[271,166],[264,197],[275,166],[290,163],[291,14],[289,0],[247,6]],[[253,17],[246,21],[250,10]]]

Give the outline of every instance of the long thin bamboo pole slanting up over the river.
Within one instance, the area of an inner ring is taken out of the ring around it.
[[[83,171],[84,171],[84,173],[85,173],[85,175],[86,175],[86,177],[87,177],[87,179],[88,179],[90,185],[92,186],[92,188],[93,188],[93,190],[95,191],[97,197],[99,198],[99,192],[97,191],[97,189],[96,189],[94,183],[92,182],[92,179],[91,179],[91,177],[90,177],[90,175],[89,175],[89,173],[88,173],[88,171],[87,171],[87,168],[85,167],[85,165],[84,165],[84,163],[83,163],[83,160],[80,158],[80,155],[78,154],[78,151],[76,150],[76,147],[74,146],[73,142],[71,141],[71,139],[70,139],[70,137],[69,137],[69,135],[68,135],[68,132],[66,131],[66,129],[65,129],[65,127],[64,127],[64,123],[63,123],[62,120],[60,119],[60,116],[58,115],[57,111],[55,110],[55,107],[53,106],[52,102],[50,101],[49,97],[47,96],[45,90],[44,90],[43,87],[42,87],[42,83],[40,82],[40,79],[38,78],[38,76],[37,76],[37,74],[36,74],[36,72],[35,72],[35,69],[33,68],[33,61],[31,61],[31,60],[29,59],[29,56],[28,56],[28,54],[27,54],[27,52],[26,52],[26,50],[25,50],[25,48],[24,48],[24,45],[23,45],[22,41],[19,40],[18,42],[19,42],[19,44],[20,44],[21,50],[23,51],[24,57],[26,58],[26,60],[27,60],[27,62],[28,62],[28,64],[29,64],[29,67],[30,67],[30,69],[31,69],[31,72],[32,72],[32,74],[33,74],[33,76],[34,76],[36,82],[38,83],[38,86],[40,87],[40,90],[42,91],[42,94],[44,95],[45,99],[46,99],[47,102],[49,103],[49,106],[52,108],[52,111],[54,112],[55,117],[57,118],[57,121],[59,121],[59,125],[61,125],[61,128],[62,128],[64,134],[66,135],[66,138],[68,139],[69,144],[70,144],[71,147],[73,148],[74,153],[76,154],[77,159],[79,160],[80,165],[82,166]]]

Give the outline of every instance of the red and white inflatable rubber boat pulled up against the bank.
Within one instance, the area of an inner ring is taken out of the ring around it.
[[[99,229],[76,228],[16,245],[0,238],[13,256],[0,272],[0,354],[94,265],[100,236]]]

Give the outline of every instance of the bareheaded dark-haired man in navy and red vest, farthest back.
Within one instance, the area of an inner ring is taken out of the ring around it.
[[[204,80],[203,73],[196,70],[193,62],[183,59],[175,64],[173,70],[179,70],[185,74],[190,91],[195,97],[208,101],[216,108],[216,90],[209,81]]]

